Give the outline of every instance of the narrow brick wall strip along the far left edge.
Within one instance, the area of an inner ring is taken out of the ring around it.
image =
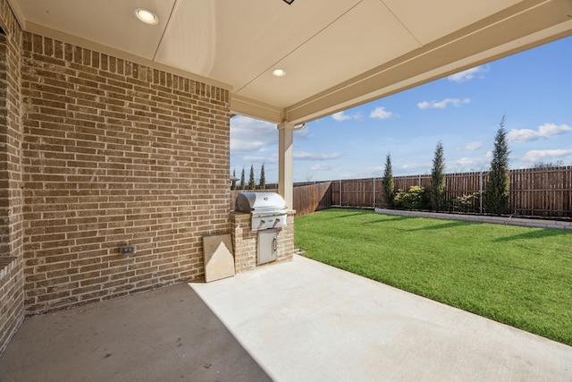
[[[0,355],[24,318],[21,30],[0,0]]]

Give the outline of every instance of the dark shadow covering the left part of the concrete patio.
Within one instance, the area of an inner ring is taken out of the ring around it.
[[[270,380],[188,284],[27,318],[0,381]]]

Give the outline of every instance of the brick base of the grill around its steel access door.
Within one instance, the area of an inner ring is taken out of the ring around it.
[[[293,259],[295,214],[296,211],[290,211],[286,226],[277,229],[277,259],[269,264],[282,263]],[[257,267],[258,233],[250,229],[250,222],[250,214],[231,212],[231,234],[236,273],[247,272]]]

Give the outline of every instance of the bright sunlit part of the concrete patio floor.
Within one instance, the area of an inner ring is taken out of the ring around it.
[[[572,381],[572,347],[296,256],[198,295],[276,381]]]

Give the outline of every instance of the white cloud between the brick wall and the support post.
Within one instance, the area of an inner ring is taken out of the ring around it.
[[[231,118],[231,153],[245,154],[278,145],[276,125],[237,115]]]

